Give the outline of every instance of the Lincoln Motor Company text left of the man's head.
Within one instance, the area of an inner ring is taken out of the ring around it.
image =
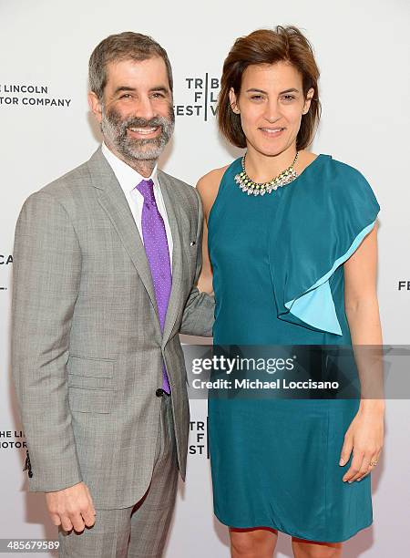
[[[0,84],[0,107],[50,107],[68,108],[71,98],[49,96],[49,88],[44,85]]]

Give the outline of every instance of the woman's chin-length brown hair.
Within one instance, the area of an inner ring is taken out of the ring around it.
[[[276,26],[275,29],[258,29],[248,36],[239,37],[223,63],[217,108],[218,125],[221,133],[233,145],[246,147],[246,138],[241,127],[241,115],[231,109],[231,88],[239,98],[242,75],[248,66],[280,61],[289,62],[301,74],[304,98],[310,88],[314,89],[310,109],[302,115],[296,149],[303,150],[312,142],[321,116],[317,85],[320,74],[313,48],[297,27]]]

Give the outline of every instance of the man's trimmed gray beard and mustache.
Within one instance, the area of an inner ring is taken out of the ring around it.
[[[158,138],[135,140],[128,136],[128,128],[154,128],[160,126]],[[129,117],[121,120],[118,113],[111,110],[106,113],[102,107],[101,130],[107,143],[118,151],[124,160],[158,160],[159,155],[169,142],[175,126],[174,109],[169,109],[169,118],[157,116],[153,119]],[[143,146],[147,146],[143,149]]]

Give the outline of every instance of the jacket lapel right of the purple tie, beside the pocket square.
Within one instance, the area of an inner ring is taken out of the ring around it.
[[[162,345],[165,346],[172,333],[177,319],[179,305],[182,304],[182,231],[180,219],[179,198],[175,188],[173,188],[169,178],[161,171],[158,173],[159,187],[164,199],[169,228],[172,234],[172,287],[169,295],[167,315],[165,318],[164,331],[162,334]]]

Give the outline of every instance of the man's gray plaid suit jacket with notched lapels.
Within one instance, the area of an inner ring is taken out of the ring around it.
[[[15,229],[12,366],[29,450],[29,491],[84,480],[99,508],[149,487],[162,359],[172,389],[179,471],[190,410],[179,332],[210,336],[213,298],[201,266],[198,192],[165,172],[172,290],[161,335],[144,246],[101,150],[32,194]]]

